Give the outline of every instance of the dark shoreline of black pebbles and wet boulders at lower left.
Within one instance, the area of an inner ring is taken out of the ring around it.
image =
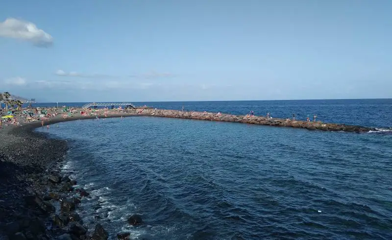
[[[89,193],[60,174],[66,142],[32,132],[35,127],[0,131],[0,239],[108,239],[99,223],[88,231],[75,212]]]

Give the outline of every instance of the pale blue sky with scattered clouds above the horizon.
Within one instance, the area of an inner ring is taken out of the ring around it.
[[[392,98],[391,0],[12,0],[0,91],[44,102]]]

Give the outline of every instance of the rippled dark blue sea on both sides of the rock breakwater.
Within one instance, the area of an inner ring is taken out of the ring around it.
[[[392,99],[141,103],[375,126],[323,132],[157,117],[75,120],[64,174],[79,214],[116,239],[392,239]],[[67,103],[67,105],[73,105]],[[82,104],[81,104],[82,105]],[[129,226],[141,214],[144,224]],[[98,219],[97,219],[98,218]]]

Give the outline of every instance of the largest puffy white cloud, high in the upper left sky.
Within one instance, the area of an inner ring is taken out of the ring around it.
[[[44,30],[33,23],[14,18],[0,22],[0,37],[22,39],[37,47],[49,47],[53,44],[53,37]]]

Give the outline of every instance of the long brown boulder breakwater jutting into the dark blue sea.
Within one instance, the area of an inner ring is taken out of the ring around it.
[[[256,125],[268,125],[278,127],[294,127],[305,128],[309,130],[322,131],[344,131],[344,132],[368,132],[375,130],[370,127],[363,127],[358,125],[345,125],[338,123],[326,123],[322,121],[301,121],[278,118],[267,118],[264,116],[238,116],[231,114],[209,113],[209,112],[188,112],[177,110],[163,110],[163,109],[133,109],[129,110],[138,115],[166,117],[166,118],[180,118],[180,119],[195,119],[195,120],[211,120],[211,121],[227,121],[227,122],[241,122]]]

